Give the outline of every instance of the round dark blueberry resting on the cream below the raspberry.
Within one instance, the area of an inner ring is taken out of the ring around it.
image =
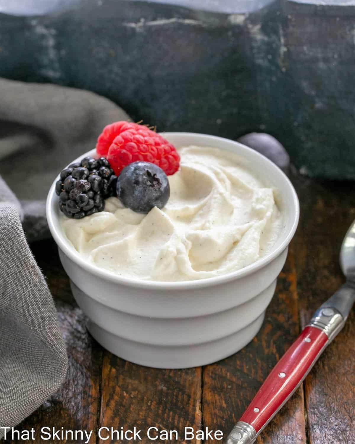
[[[133,162],[117,178],[117,197],[137,213],[163,208],[170,197],[168,178],[162,168],[150,162]]]

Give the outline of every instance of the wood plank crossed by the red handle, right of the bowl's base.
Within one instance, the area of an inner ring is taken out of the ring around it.
[[[260,332],[240,352],[204,368],[203,425],[221,429],[226,436],[298,333],[298,298],[291,244]],[[306,442],[302,387],[264,429],[257,442]]]

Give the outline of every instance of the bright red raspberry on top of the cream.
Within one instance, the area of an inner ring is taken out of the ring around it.
[[[158,165],[167,174],[179,169],[175,147],[155,131],[124,120],[107,125],[99,135],[96,151],[106,156],[114,174],[139,160]]]

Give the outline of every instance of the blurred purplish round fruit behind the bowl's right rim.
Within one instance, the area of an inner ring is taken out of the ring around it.
[[[249,133],[237,139],[237,142],[243,143],[260,154],[270,159],[273,163],[287,170],[290,164],[290,157],[281,143],[266,133]]]

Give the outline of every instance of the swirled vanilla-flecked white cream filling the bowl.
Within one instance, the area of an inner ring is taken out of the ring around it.
[[[110,197],[102,212],[62,216],[65,235],[87,262],[122,277],[190,281],[240,270],[272,249],[282,226],[274,190],[232,152],[177,151],[180,169],[168,176],[162,209],[140,214]]]

